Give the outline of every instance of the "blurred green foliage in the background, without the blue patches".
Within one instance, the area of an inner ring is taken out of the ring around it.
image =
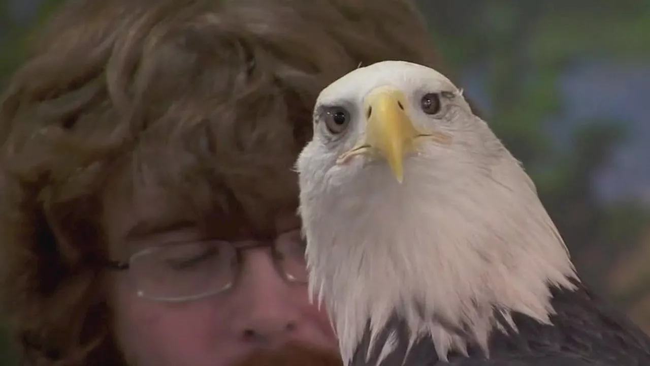
[[[0,5],[0,85],[23,60],[29,29],[38,27],[60,0],[44,0],[29,24]],[[434,42],[452,72],[486,61],[491,126],[526,166],[552,218],[591,284],[628,309],[650,330],[650,273],[638,270],[625,286],[612,285],[620,260],[650,238],[650,214],[636,201],[604,205],[592,179],[612,148],[625,143],[624,121],[578,124],[570,148],[559,148],[547,125],[564,109],[558,78],[576,59],[605,59],[621,68],[650,61],[647,0],[421,0]],[[643,158],[643,157],[642,157]],[[650,184],[650,183],[649,183]],[[650,240],[645,242],[650,245]],[[650,258],[648,258],[650,260]],[[625,267],[625,266],[623,266]],[[0,327],[1,334],[1,327]],[[0,336],[0,365],[11,365]]]

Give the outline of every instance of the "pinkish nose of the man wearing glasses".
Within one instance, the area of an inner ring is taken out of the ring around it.
[[[247,343],[283,343],[298,327],[300,299],[276,269],[269,249],[244,253],[237,296],[240,305],[238,332]]]

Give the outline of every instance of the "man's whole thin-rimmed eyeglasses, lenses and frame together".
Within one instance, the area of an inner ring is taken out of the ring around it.
[[[269,247],[278,273],[289,283],[307,283],[305,242],[299,230],[273,242],[202,240],[152,246],[128,261],[111,260],[112,270],[129,270],[138,296],[159,302],[187,302],[220,294],[237,281],[242,252]]]

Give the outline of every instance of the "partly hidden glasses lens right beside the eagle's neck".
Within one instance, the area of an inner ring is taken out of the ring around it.
[[[285,232],[278,236],[279,265],[291,281],[306,283],[309,279],[307,260],[305,259],[306,242],[300,230]]]

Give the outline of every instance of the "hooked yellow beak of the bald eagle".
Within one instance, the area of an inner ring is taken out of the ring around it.
[[[370,92],[364,103],[365,142],[385,158],[400,183],[404,180],[404,156],[413,150],[415,138],[421,135],[404,106],[404,93],[389,88]]]

